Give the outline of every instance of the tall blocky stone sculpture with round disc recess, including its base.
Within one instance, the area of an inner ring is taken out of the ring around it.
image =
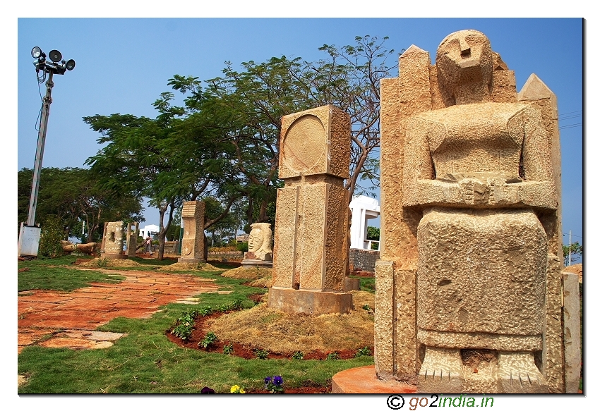
[[[268,306],[285,312],[348,312],[350,120],[334,106],[282,118],[273,286]]]

